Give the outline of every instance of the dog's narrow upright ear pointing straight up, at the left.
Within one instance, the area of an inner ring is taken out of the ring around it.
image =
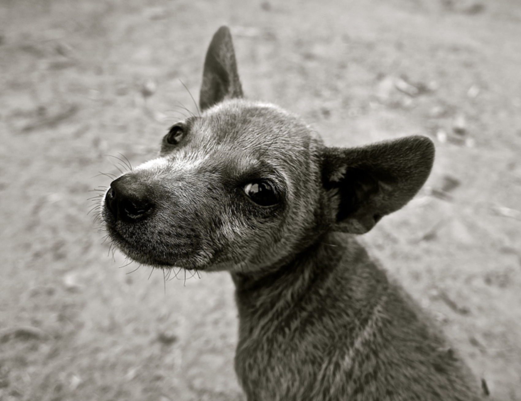
[[[220,27],[206,52],[199,105],[206,110],[224,99],[242,96],[230,30]]]

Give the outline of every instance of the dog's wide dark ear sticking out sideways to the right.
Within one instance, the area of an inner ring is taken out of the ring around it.
[[[361,148],[326,148],[322,183],[334,229],[364,234],[410,201],[429,176],[434,145],[423,136]]]

